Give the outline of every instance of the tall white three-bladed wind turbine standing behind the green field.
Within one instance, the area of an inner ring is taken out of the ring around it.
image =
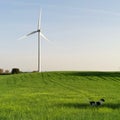
[[[40,15],[39,15],[39,18],[38,18],[38,27],[37,27],[37,30],[27,34],[27,35],[24,35],[23,37],[19,38],[20,39],[24,39],[32,34],[35,34],[35,33],[38,33],[38,72],[41,72],[42,71],[42,66],[41,66],[41,37],[44,38],[45,40],[48,40],[44,34],[41,33],[41,10],[40,10]],[[49,41],[49,40],[48,40]]]

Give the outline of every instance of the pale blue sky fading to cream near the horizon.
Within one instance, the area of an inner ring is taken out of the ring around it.
[[[1,0],[0,68],[37,70],[42,9],[42,71],[119,71],[119,0]]]

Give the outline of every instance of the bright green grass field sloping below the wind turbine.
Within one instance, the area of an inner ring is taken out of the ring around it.
[[[100,107],[90,100],[104,98]],[[0,120],[119,120],[119,72],[0,76]]]

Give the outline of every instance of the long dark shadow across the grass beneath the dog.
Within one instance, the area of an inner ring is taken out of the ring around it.
[[[68,107],[68,108],[77,108],[77,109],[85,109],[85,108],[101,108],[101,107],[106,107],[106,108],[111,108],[111,109],[120,109],[120,104],[115,104],[115,103],[107,103],[103,104],[101,106],[91,106],[90,104],[80,104],[80,103],[60,103],[56,104],[55,106],[57,107]]]

